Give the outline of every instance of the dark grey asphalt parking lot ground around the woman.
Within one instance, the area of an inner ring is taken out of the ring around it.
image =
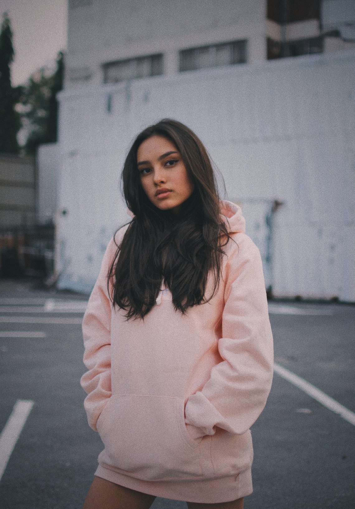
[[[86,300],[29,281],[0,280],[1,509],[80,508],[91,484],[102,444],[88,427],[79,385]],[[269,312],[277,365],[335,404],[330,409],[327,400],[275,374],[252,427],[254,492],[244,507],[351,509],[355,306],[271,301]],[[343,407],[348,414],[342,416]],[[162,498],[152,505],[186,507]]]

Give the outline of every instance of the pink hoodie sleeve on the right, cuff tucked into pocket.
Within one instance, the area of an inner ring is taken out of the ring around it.
[[[202,390],[185,406],[185,422],[195,438],[213,435],[215,427],[245,433],[262,412],[274,362],[265,283],[258,248],[244,234],[226,264],[225,306],[218,350],[223,359],[213,366]]]

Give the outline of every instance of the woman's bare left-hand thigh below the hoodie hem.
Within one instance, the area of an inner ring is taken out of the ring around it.
[[[149,509],[155,497],[94,477],[83,509]]]

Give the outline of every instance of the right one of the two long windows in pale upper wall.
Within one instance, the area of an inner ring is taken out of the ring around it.
[[[199,48],[183,49],[179,53],[179,70],[208,69],[247,62],[247,41],[233,41]]]

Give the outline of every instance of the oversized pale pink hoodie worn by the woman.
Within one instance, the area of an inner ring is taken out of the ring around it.
[[[95,474],[121,486],[201,503],[252,492],[250,427],[271,387],[272,334],[259,250],[239,207],[222,202],[221,213],[231,239],[219,289],[185,315],[162,286],[144,320],[127,321],[107,292],[114,239],[104,254],[83,320],[81,385],[104,444]]]

